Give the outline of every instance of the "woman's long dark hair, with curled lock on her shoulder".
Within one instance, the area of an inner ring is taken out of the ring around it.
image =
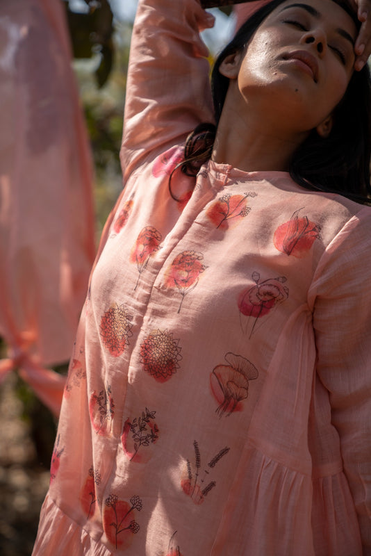
[[[216,126],[200,124],[190,133],[184,161],[179,165],[182,172],[195,176],[201,165],[211,158],[216,127],[229,87],[229,78],[219,71],[222,60],[242,50],[267,15],[283,1],[272,0],[254,13],[218,56],[211,79]],[[351,15],[359,30],[361,24],[347,0],[333,1]],[[360,72],[354,71],[343,99],[333,111],[333,128],[329,137],[322,138],[315,129],[311,131],[293,154],[289,172],[292,179],[304,188],[339,193],[370,204],[370,156],[371,85],[370,70],[365,65]]]

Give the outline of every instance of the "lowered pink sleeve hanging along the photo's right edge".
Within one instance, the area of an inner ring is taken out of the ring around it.
[[[371,218],[363,208],[327,248],[313,281],[318,375],[329,391],[363,543],[371,554]]]

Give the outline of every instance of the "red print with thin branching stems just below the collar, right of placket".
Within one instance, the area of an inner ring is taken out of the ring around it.
[[[250,192],[243,195],[226,193],[208,208],[206,215],[217,228],[226,230],[232,219],[233,222],[238,222],[249,214],[251,208],[247,206],[248,197],[256,197],[256,193]]]

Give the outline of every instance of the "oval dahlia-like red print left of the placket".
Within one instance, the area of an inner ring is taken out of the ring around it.
[[[101,318],[101,338],[114,357],[119,357],[124,353],[129,338],[133,336],[131,328],[131,316],[124,309],[123,305],[114,304],[104,313]]]

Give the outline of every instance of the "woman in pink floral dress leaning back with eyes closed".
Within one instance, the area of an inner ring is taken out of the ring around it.
[[[370,553],[371,209],[330,183],[363,164],[343,193],[365,199],[369,139],[343,172],[318,154],[347,139],[356,18],[333,0],[263,9],[217,63],[229,81],[213,142],[198,35],[211,16],[197,0],[139,5],[125,188],[34,556]]]

